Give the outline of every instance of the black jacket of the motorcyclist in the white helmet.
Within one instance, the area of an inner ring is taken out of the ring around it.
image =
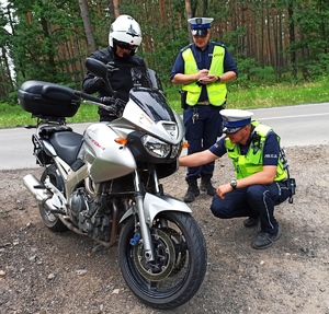
[[[135,67],[146,67],[144,59],[137,55],[121,58],[116,54],[114,54],[111,47],[106,47],[92,53],[90,55],[90,58],[98,59],[104,65],[112,62],[113,67],[118,69],[118,71],[110,74],[109,79],[113,91],[116,92],[115,96],[126,103],[129,97],[129,91],[133,88],[131,69]],[[88,94],[98,93],[100,97],[111,96],[110,91],[106,89],[105,84],[101,80],[95,80],[94,75],[89,71],[87,71],[86,73],[82,89]],[[115,118],[112,114],[109,114],[109,112],[102,108],[99,108],[99,115],[100,120],[103,121],[110,121]]]

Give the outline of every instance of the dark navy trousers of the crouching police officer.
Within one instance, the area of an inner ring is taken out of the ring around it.
[[[285,183],[251,185],[237,188],[225,195],[225,199],[214,196],[211,210],[222,219],[253,217],[260,219],[261,231],[276,234],[279,223],[274,218],[274,206],[285,201],[291,193]]]

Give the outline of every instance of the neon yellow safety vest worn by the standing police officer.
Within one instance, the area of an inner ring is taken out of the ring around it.
[[[184,73],[185,74],[196,74],[197,73],[197,65],[194,59],[193,53],[191,48],[185,49],[182,53],[182,57],[184,59]],[[225,57],[225,48],[222,46],[214,46],[212,63],[209,69],[209,74],[220,75],[224,73],[224,57]],[[216,83],[216,84],[207,84],[207,94],[208,101],[214,106],[222,106],[226,101],[226,83]],[[182,86],[183,91],[188,92],[186,103],[190,106],[194,106],[201,95],[202,86],[198,86],[196,82],[192,82],[190,84],[185,84]]]

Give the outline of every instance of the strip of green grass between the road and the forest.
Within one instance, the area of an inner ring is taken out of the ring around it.
[[[329,78],[296,85],[284,83],[251,89],[228,85],[228,108],[252,109],[329,102]],[[179,86],[166,89],[166,92],[170,106],[181,114]],[[97,106],[82,104],[76,116],[68,118],[67,123],[97,121],[99,119],[97,112]],[[31,114],[24,112],[20,105],[0,103],[0,128],[22,127],[29,124],[34,125],[35,119],[32,119]]]

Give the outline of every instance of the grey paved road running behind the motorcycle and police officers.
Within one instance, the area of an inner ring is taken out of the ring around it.
[[[254,118],[271,126],[283,147],[329,144],[329,103],[254,109]],[[82,133],[90,124],[70,125]],[[0,170],[36,167],[25,128],[0,129]]]

